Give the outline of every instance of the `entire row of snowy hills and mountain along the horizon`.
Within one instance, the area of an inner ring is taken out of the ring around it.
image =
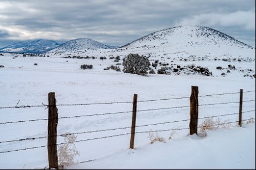
[[[101,44],[92,39],[75,39],[59,44],[51,40],[34,40],[22,41],[5,48],[0,49],[0,52],[9,53],[46,53],[46,52],[70,52],[84,49],[114,49],[117,46]],[[233,37],[226,35],[208,27],[201,26],[182,26],[163,29],[143,36],[138,40],[132,41],[129,44],[121,46],[127,48],[143,48],[143,49],[170,49],[187,51],[189,50],[205,50],[216,52],[219,49],[254,49]]]

